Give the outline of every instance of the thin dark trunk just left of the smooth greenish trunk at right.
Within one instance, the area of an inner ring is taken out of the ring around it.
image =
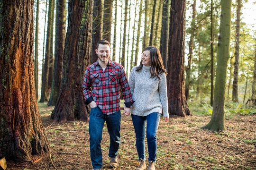
[[[213,58],[213,0],[210,5],[210,105],[213,104],[214,58]]]

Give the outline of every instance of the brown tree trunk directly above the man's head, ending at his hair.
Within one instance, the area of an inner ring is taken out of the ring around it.
[[[110,42],[113,0],[104,0],[103,39]]]

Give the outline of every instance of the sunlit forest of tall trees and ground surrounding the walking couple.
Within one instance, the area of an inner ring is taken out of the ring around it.
[[[82,82],[102,39],[127,77],[145,47],[161,52],[170,118],[157,170],[255,170],[255,11],[256,0],[0,0],[0,170],[92,169]],[[104,125],[102,170],[109,145]],[[118,159],[113,170],[138,165],[131,116]]]

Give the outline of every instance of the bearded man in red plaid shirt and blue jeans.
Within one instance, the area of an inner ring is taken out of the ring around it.
[[[110,59],[110,42],[99,41],[95,51],[98,60],[86,69],[82,87],[85,103],[91,106],[89,120],[91,164],[93,170],[100,170],[102,129],[105,121],[110,135],[110,168],[118,166],[121,122],[119,86],[126,105],[124,113],[130,113],[133,101],[124,68]]]

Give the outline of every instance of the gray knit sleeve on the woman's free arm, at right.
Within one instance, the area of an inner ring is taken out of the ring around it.
[[[167,99],[167,84],[166,84],[166,76],[165,74],[160,74],[160,81],[159,81],[159,96],[160,101],[163,106],[164,110],[164,117],[169,118],[168,113],[168,99]]]

